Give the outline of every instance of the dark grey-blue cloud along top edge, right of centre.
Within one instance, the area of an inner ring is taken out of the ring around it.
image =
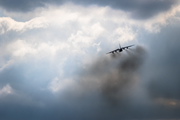
[[[170,9],[177,0],[76,0],[76,2],[84,5],[110,6],[130,12],[133,18],[146,19]]]

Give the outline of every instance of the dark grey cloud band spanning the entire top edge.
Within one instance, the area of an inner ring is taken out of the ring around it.
[[[178,0],[2,0],[0,6],[9,11],[27,12],[45,4],[61,5],[67,2],[80,5],[110,6],[132,13],[133,18],[145,19],[176,5]]]

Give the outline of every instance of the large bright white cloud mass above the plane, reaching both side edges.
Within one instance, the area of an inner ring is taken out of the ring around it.
[[[0,33],[21,33],[21,38],[10,38],[13,41],[9,40],[5,47],[8,52],[4,50],[14,57],[55,56],[57,53],[63,54],[62,57],[69,54],[86,56],[88,49],[95,43],[127,43],[137,39],[137,31],[141,28],[149,32],[159,32],[161,26],[168,24],[167,21],[176,16],[179,8],[175,6],[148,20],[134,20],[129,17],[129,13],[109,7],[82,7],[73,4],[48,6],[32,13],[18,14],[20,18],[32,17],[26,22],[1,17]],[[35,14],[35,17],[32,14]],[[32,34],[32,30],[36,28],[46,29],[39,29]],[[98,51],[100,48],[101,45],[98,46]]]

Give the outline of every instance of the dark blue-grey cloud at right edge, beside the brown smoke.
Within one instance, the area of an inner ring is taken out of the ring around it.
[[[180,100],[180,25],[170,25],[148,38],[150,58],[146,70],[148,91],[153,98]]]

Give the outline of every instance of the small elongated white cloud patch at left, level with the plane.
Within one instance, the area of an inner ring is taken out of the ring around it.
[[[51,43],[51,42],[40,42],[33,43],[27,42],[26,40],[17,40],[9,43],[6,47],[14,57],[44,57],[44,56],[54,56],[56,52],[60,49],[66,49],[68,46],[61,42]]]

